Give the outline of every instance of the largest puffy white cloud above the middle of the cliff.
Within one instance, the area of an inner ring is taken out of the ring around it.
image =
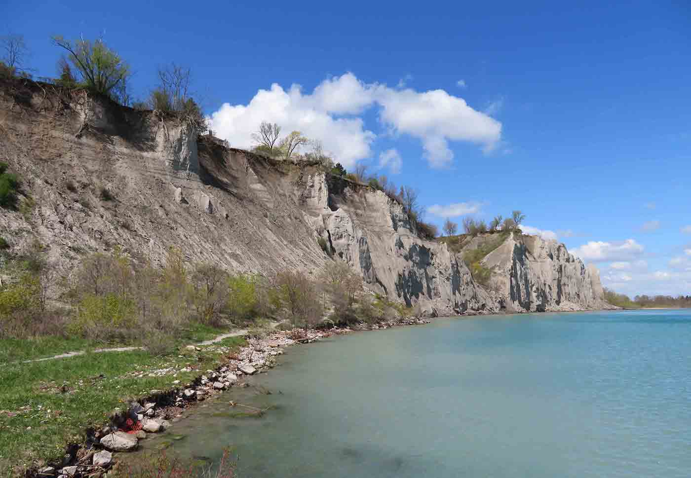
[[[471,142],[491,150],[501,140],[502,124],[460,97],[444,90],[366,84],[352,73],[325,79],[312,93],[296,84],[285,90],[274,83],[269,90],[258,90],[246,105],[223,104],[211,113],[209,124],[232,146],[249,148],[258,125],[275,122],[284,133],[299,130],[321,140],[335,160],[350,167],[372,155],[377,135],[358,116],[370,108],[376,108],[388,132],[420,140],[433,167],[452,162],[449,142]]]

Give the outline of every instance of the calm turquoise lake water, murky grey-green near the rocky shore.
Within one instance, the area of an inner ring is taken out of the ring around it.
[[[354,333],[289,347],[223,396],[272,410],[199,408],[173,450],[216,460],[232,446],[242,478],[687,478],[690,352],[688,309]]]

